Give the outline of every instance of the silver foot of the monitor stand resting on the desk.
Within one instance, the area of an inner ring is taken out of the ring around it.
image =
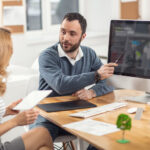
[[[129,96],[126,97],[126,100],[138,103],[148,103],[150,102],[150,93],[145,93],[142,96]]]

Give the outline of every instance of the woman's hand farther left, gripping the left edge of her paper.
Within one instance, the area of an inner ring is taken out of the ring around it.
[[[16,115],[19,113],[18,110],[13,110],[13,108],[18,105],[22,100],[17,100],[15,102],[13,102],[12,104],[10,104],[8,107],[6,107],[6,112],[5,112],[5,116],[8,116],[8,115]]]

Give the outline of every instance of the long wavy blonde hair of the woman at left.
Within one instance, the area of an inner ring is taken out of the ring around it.
[[[6,68],[12,55],[11,32],[0,27],[0,96],[6,90]]]

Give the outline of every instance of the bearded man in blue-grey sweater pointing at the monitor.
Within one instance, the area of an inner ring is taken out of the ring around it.
[[[86,26],[85,18],[79,13],[66,14],[60,28],[59,43],[41,53],[39,89],[52,89],[49,96],[72,94],[88,100],[113,91],[104,79],[112,76],[117,64],[103,65],[91,48],[80,46],[86,37]],[[84,89],[94,83],[90,89]],[[53,140],[61,134],[68,134],[39,116],[35,126],[41,125],[48,128]]]

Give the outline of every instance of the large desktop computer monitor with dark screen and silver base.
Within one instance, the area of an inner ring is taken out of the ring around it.
[[[111,81],[117,88],[150,92],[150,21],[112,20],[108,63],[116,62]],[[148,102],[150,96],[132,98]]]

